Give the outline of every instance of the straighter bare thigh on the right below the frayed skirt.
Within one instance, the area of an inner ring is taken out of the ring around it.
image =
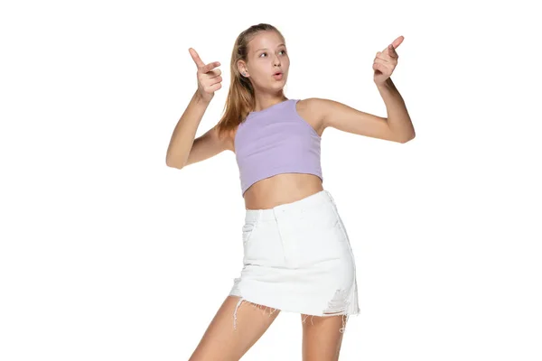
[[[339,359],[346,315],[301,315],[303,321],[303,359],[335,361]]]

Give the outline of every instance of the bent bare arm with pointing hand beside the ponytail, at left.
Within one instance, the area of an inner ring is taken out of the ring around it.
[[[214,97],[214,92],[221,88],[222,77],[220,77],[220,69],[215,70],[220,65],[219,61],[205,65],[195,50],[191,48],[189,51],[198,67],[198,89],[173,129],[165,156],[165,164],[178,169],[188,164],[201,162],[229,148],[229,138],[220,139],[216,125],[194,139],[201,118]]]

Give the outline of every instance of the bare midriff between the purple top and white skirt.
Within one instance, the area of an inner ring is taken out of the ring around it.
[[[281,173],[258,180],[245,193],[245,208],[268,209],[304,199],[323,190],[322,179],[313,174]]]

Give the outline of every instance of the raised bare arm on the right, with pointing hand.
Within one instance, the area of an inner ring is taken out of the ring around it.
[[[406,110],[405,101],[399,94],[391,74],[397,66],[398,55],[395,48],[403,42],[399,36],[384,51],[378,51],[373,63],[374,81],[386,104],[388,117],[374,116],[340,102],[313,98],[320,115],[322,127],[385,139],[397,143],[406,143],[416,136],[414,126]]]

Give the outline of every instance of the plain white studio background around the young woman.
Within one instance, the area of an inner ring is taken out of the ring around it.
[[[324,189],[357,262],[341,360],[542,359],[541,33],[527,1],[3,2],[0,359],[187,360],[238,277],[244,204],[233,153],[165,165],[239,32],[272,23],[289,98],[387,116],[392,75],[416,139],[326,130]],[[468,5],[467,5],[468,4]],[[530,3],[533,4],[533,3]],[[244,360],[300,360],[282,312]]]

